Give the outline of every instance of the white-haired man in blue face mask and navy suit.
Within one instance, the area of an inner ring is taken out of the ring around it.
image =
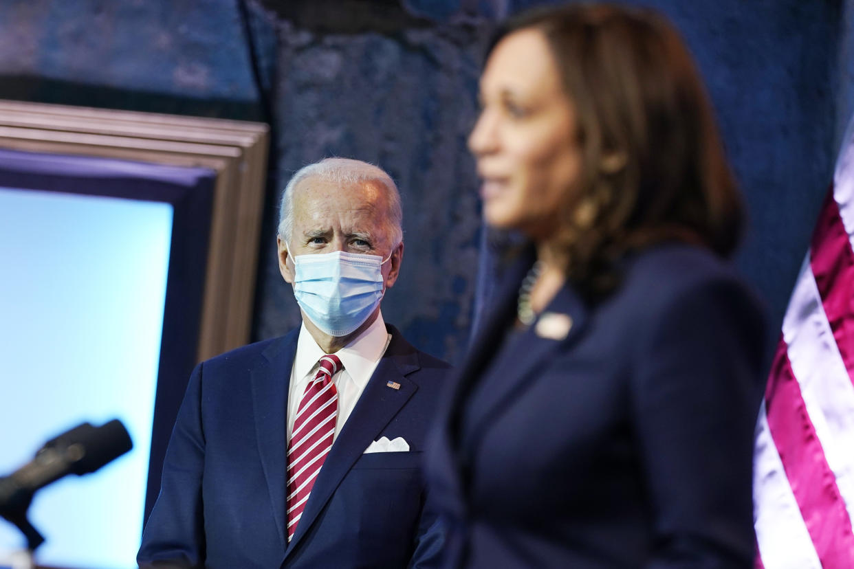
[[[447,364],[383,322],[403,258],[395,183],[357,160],[306,166],[278,253],[302,326],[196,367],[137,560],[432,566],[444,536],[421,451]]]

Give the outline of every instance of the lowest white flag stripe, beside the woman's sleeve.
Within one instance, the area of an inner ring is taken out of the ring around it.
[[[822,569],[765,415],[759,410],[753,455],[753,524],[765,569]]]

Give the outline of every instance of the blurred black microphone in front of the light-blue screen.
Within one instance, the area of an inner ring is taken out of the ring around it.
[[[66,474],[95,472],[132,448],[131,437],[118,419],[102,427],[82,423],[51,438],[32,461],[0,478],[0,515],[9,520],[26,516],[32,495],[39,488]]]

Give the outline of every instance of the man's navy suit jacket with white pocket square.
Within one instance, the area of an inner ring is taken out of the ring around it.
[[[426,567],[443,531],[425,507],[424,438],[447,364],[392,334],[285,537],[285,420],[299,330],[200,363],[143,532],[141,566]],[[387,382],[400,384],[399,389]],[[377,438],[409,452],[363,455]]]

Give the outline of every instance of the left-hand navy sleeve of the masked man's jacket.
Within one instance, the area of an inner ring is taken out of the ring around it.
[[[163,462],[161,493],[143,531],[137,554],[141,567],[196,567],[204,564],[202,470],[202,363],[190,375],[184,401]]]

